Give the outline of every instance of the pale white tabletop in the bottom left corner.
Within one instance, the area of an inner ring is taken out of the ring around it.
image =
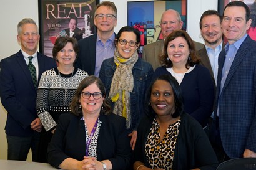
[[[9,161],[0,160],[0,169],[2,170],[56,170],[50,164],[36,163],[28,161]]]

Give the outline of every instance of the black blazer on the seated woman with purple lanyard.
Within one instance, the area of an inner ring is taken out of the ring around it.
[[[66,158],[79,161],[86,155],[86,131],[82,116],[71,113],[59,116],[56,131],[48,148],[49,164],[59,168]],[[101,129],[97,141],[97,160],[109,159],[112,169],[127,169],[130,165],[131,148],[127,136],[126,119],[111,114],[99,116]]]

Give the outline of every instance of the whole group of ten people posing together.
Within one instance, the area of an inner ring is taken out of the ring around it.
[[[0,62],[8,159],[26,161],[31,148],[33,161],[61,169],[208,170],[256,157],[256,42],[244,2],[202,14],[205,45],[165,11],[164,40],[142,58],[137,29],[114,33],[113,2],[96,6],[94,24],[97,34],[78,42],[59,37],[52,59],[37,52],[36,23],[19,22],[21,50]]]

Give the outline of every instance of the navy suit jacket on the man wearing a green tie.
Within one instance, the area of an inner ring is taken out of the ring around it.
[[[37,52],[39,77],[46,70],[56,67],[51,57]],[[11,136],[31,136],[34,130],[30,123],[36,115],[36,89],[21,50],[0,62],[0,96],[7,111],[6,134]]]

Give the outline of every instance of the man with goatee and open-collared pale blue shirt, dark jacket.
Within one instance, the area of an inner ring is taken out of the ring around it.
[[[204,48],[198,51],[201,64],[207,67],[216,86],[218,59],[224,44],[222,42],[222,16],[215,10],[205,11],[200,18],[200,32],[204,39]]]

